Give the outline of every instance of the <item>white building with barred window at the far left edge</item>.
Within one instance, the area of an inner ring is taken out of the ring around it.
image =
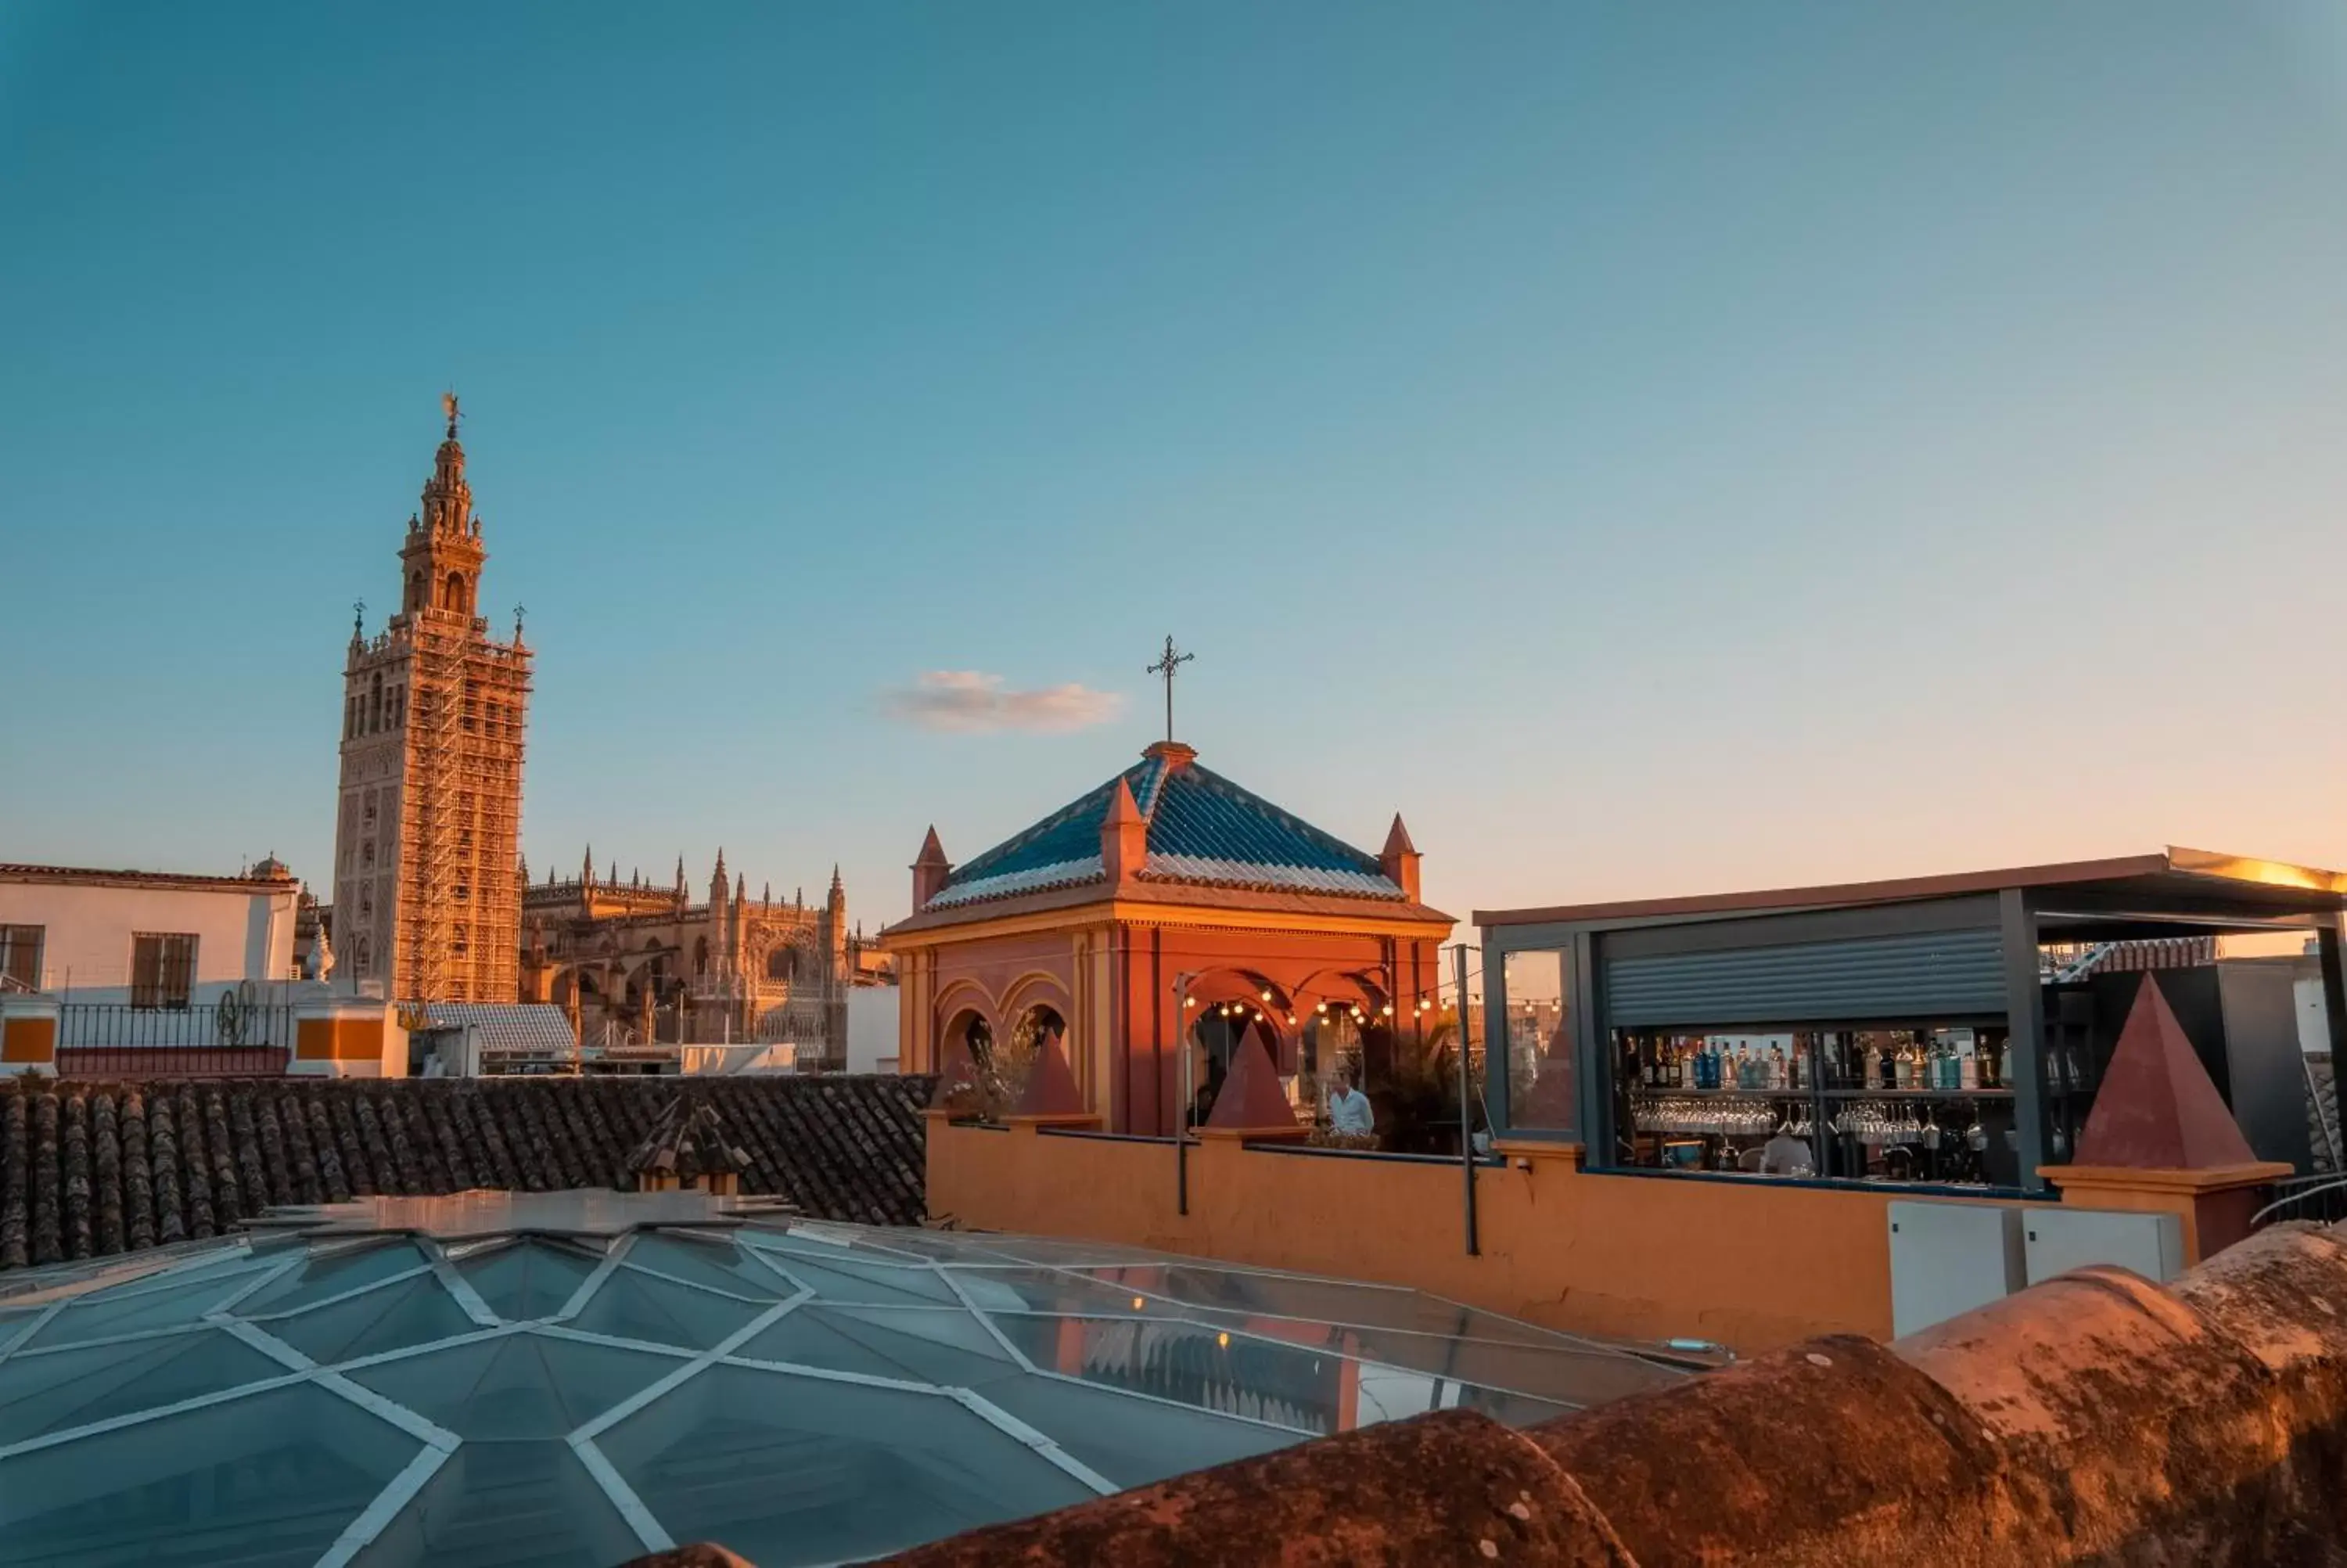
[[[298,897],[275,857],[244,876],[0,864],[0,991],[216,1007],[242,981],[293,979]]]

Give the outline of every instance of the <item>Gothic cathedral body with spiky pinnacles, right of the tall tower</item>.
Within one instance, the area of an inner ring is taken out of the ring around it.
[[[749,897],[718,850],[706,899],[695,901],[685,861],[676,883],[596,876],[594,852],[575,880],[521,890],[523,1000],[570,1014],[582,1042],[718,1045],[791,1042],[800,1066],[847,1063],[847,988],[857,941],[838,869],[819,906],[805,897]]]

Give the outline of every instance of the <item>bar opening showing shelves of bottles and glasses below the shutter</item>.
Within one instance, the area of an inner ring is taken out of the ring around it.
[[[2014,1188],[2002,1023],[1617,1028],[1615,1157],[1756,1178]]]

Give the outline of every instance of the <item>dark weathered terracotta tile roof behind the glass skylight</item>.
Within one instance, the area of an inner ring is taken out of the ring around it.
[[[819,1218],[922,1218],[932,1077],[692,1084],[742,1190]],[[678,1094],[674,1077],[0,1084],[0,1268],[232,1230],[270,1204],[465,1188],[606,1188]]]

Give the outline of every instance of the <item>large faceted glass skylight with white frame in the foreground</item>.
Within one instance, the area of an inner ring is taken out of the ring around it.
[[[1683,1376],[1406,1289],[695,1195],[291,1218],[0,1277],[0,1563],[836,1563]]]

